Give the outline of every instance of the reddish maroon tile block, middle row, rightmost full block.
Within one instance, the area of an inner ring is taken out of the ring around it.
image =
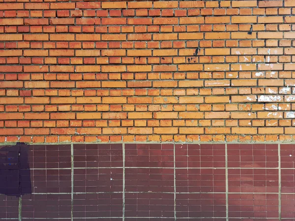
[[[278,169],[228,169],[229,193],[278,193]]]

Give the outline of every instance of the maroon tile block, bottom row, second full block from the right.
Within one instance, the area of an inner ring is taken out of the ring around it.
[[[226,217],[225,193],[177,193],[177,218]],[[182,219],[181,219],[182,220]]]

